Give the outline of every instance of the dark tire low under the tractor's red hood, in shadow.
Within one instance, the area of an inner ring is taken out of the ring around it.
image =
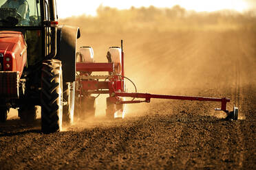
[[[38,108],[36,106],[21,107],[18,112],[19,118],[23,123],[33,123],[36,120],[36,112],[38,112]]]

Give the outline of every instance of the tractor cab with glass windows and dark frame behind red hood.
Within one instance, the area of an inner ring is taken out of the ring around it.
[[[54,0],[4,0],[0,3],[1,31],[21,32],[27,44],[24,69],[56,53],[56,23]]]

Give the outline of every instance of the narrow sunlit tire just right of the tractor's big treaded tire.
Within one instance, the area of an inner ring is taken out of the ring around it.
[[[71,125],[74,121],[74,82],[63,84],[63,123]]]

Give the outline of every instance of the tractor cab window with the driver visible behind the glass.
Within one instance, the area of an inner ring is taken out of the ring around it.
[[[40,26],[39,0],[1,0],[0,26]]]

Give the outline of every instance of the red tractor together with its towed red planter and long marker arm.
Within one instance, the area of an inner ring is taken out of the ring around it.
[[[12,5],[8,5],[10,1]],[[63,123],[72,123],[75,101],[77,113],[80,110],[81,115],[94,115],[92,94],[109,94],[106,109],[109,118],[118,112],[122,114],[124,104],[149,102],[151,98],[219,101],[219,110],[232,119],[238,117],[237,108],[232,112],[226,109],[230,99],[225,97],[126,93],[122,47],[109,48],[108,62],[104,63],[94,62],[90,47],[82,47],[76,55],[79,28],[58,25],[54,0],[6,0],[0,5],[1,122],[6,121],[10,108],[16,108],[21,121],[31,123],[36,119],[37,106],[41,106],[42,131],[56,132]],[[98,71],[108,74],[92,74]],[[132,99],[124,101],[123,97]]]

